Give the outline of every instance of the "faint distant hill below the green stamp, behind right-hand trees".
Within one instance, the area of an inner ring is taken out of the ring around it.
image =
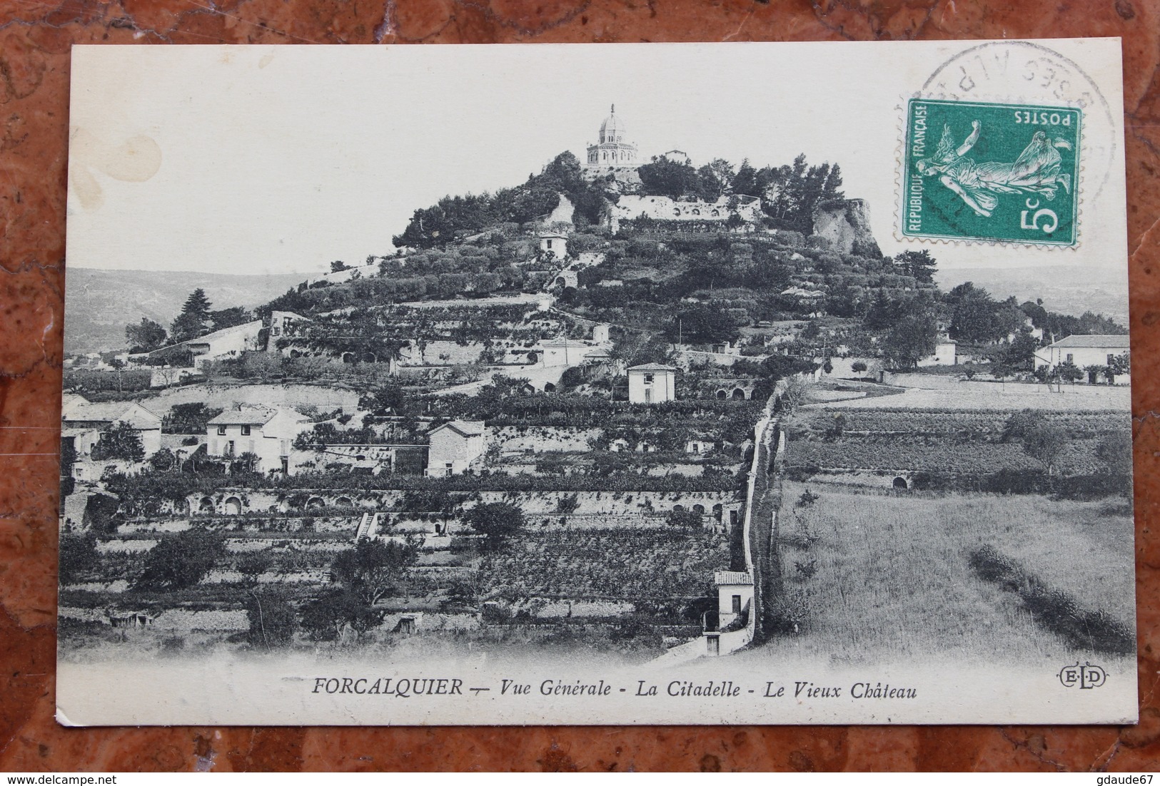
[[[1108,268],[958,268],[938,270],[935,281],[945,292],[963,282],[991,292],[996,300],[1015,296],[1020,303],[1043,299],[1047,311],[1079,316],[1090,311],[1128,325],[1128,276]]]

